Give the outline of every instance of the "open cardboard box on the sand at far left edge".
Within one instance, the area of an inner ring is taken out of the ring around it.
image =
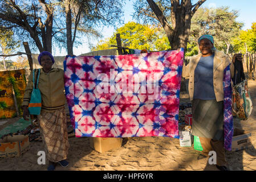
[[[16,157],[29,150],[29,135],[7,136],[0,140],[0,158]]]

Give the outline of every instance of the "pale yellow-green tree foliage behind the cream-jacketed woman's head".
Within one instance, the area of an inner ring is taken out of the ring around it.
[[[238,11],[229,7],[217,9],[198,9],[191,22],[189,43],[197,47],[197,40],[201,35],[210,34],[214,37],[214,46],[227,52],[233,39],[239,35],[243,23],[237,21]],[[196,48],[191,50],[195,52]],[[188,53],[192,55],[193,53]]]

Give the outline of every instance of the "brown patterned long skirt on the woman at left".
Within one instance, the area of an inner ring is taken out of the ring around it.
[[[48,160],[67,159],[69,143],[64,107],[51,113],[42,111],[38,123]]]

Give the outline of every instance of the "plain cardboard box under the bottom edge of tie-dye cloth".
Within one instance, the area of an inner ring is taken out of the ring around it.
[[[107,152],[122,145],[122,138],[90,137],[91,147],[98,152]]]

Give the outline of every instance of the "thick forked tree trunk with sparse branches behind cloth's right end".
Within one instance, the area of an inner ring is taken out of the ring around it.
[[[161,24],[172,49],[184,48],[188,43],[193,15],[206,0],[192,5],[191,0],[137,0],[133,5],[138,21]]]

